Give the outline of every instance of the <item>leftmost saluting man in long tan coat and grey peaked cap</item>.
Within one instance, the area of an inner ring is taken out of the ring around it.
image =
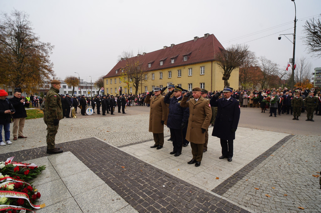
[[[152,93],[155,96],[152,96]],[[157,149],[161,149],[164,145],[164,122],[167,119],[168,106],[163,99],[164,96],[161,95],[161,88],[155,87],[154,91],[149,92],[144,101],[146,104],[150,104],[148,131],[153,133],[155,141],[151,148],[157,147]]]

